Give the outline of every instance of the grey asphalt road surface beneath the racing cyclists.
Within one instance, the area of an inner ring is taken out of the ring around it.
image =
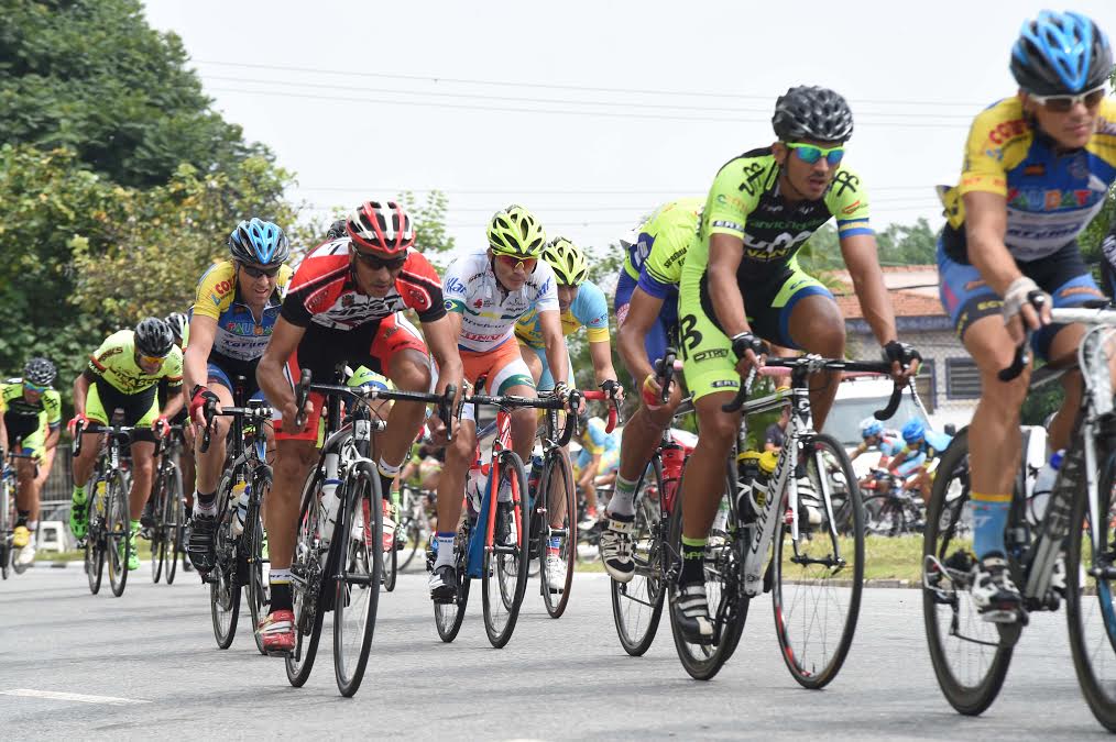
[[[92,596],[80,568],[37,567],[0,584],[0,736],[12,739],[13,730],[48,740],[1104,735],[1078,691],[1064,613],[1032,618],[1000,697],[982,717],[969,719],[937,689],[917,590],[865,590],[848,662],[817,692],[787,673],[767,599],[753,604],[729,664],[713,681],[698,682],[679,664],[665,616],[644,657],[624,653],[604,575],[577,576],[559,621],[529,592],[503,650],[484,637],[479,593],[456,641],[443,644],[425,580],[401,575],[395,593],[383,596],[364,685],[343,699],[328,633],[302,689],[288,685],[282,661],[256,652],[247,617],[232,647],[218,650],[209,594],[194,575],[153,585],[144,565],[114,598],[107,578]]]

